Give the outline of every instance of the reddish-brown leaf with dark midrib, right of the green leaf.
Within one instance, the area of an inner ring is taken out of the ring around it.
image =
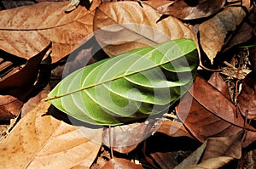
[[[207,138],[230,136],[244,127],[244,119],[240,113],[236,113],[236,107],[230,99],[200,77],[195,78],[193,87],[178,104],[177,115],[201,142]],[[256,131],[251,126],[248,128]],[[246,147],[254,140],[256,132],[249,131],[242,146]]]

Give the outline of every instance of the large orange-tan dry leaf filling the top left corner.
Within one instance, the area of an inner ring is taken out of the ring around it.
[[[52,61],[70,54],[92,33],[94,1],[90,10],[79,6],[66,14],[68,2],[38,3],[0,11],[0,48],[9,54],[30,59],[52,42]]]

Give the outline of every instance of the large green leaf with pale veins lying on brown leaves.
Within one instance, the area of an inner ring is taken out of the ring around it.
[[[46,100],[90,124],[136,121],[168,111],[193,83],[198,63],[190,39],[138,48],[74,71]]]

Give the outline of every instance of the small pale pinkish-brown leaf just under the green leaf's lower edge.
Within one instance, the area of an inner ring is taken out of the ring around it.
[[[148,138],[151,134],[151,127],[152,124],[150,123],[136,122],[108,128],[103,132],[103,144],[119,153],[127,154],[143,142],[144,139]]]

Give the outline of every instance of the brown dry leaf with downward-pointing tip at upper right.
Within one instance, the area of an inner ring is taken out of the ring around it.
[[[227,7],[199,26],[201,48],[212,64],[213,59],[223,48],[228,32],[235,31],[245,16],[246,12],[241,7]]]

